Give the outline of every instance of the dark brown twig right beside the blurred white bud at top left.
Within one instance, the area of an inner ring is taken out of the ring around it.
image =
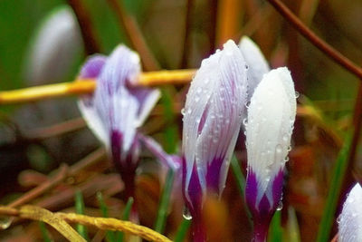
[[[100,44],[97,41],[96,34],[93,32],[89,12],[85,6],[81,4],[81,0],[68,0],[68,4],[71,5],[80,25],[85,52],[88,55],[100,53]]]

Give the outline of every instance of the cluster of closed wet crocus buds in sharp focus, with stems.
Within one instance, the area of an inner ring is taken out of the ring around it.
[[[242,123],[248,153],[245,199],[254,240],[264,241],[281,202],[291,149],[296,96],[290,72],[285,67],[270,71],[250,39],[243,38],[240,47],[228,41],[201,64],[183,114],[183,192],[194,241],[205,241],[203,203],[208,195],[223,192]]]

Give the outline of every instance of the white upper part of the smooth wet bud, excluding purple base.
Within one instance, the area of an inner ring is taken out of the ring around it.
[[[296,98],[291,73],[271,70],[252,95],[246,126],[248,167],[256,174],[259,197],[284,167],[291,145]],[[267,194],[271,199],[271,194]]]

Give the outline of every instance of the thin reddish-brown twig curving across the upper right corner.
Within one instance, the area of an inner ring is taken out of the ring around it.
[[[303,24],[300,19],[294,15],[291,10],[281,3],[279,0],[268,0],[271,5],[285,18],[288,20],[298,32],[303,35],[311,44],[314,44],[319,50],[329,56],[333,61],[344,67],[348,72],[355,74],[359,79],[362,80],[362,69],[357,64],[352,63],[346,56],[339,53],[332,46],[324,42],[314,34],[309,27]]]

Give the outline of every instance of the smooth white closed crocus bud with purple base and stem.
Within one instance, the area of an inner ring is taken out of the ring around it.
[[[246,124],[245,199],[253,217],[255,241],[265,241],[271,217],[281,202],[295,115],[296,96],[289,70],[281,67],[264,75],[253,92]]]

